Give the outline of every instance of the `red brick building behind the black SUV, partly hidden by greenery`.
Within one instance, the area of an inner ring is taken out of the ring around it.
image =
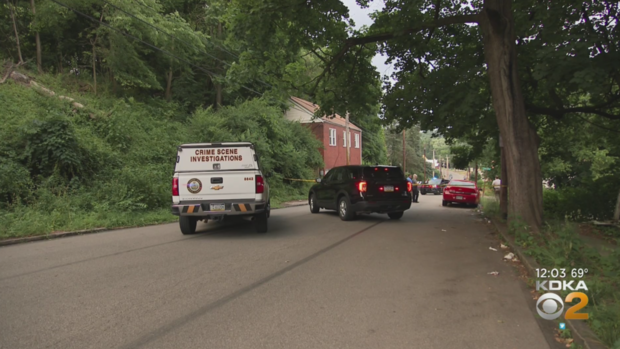
[[[325,162],[323,173],[347,164],[346,120],[338,114],[316,118],[314,113],[319,106],[298,97],[291,97],[292,106],[286,111],[287,120],[300,122],[308,127],[314,136],[323,143],[320,149]],[[350,165],[362,164],[362,130],[349,122]]]

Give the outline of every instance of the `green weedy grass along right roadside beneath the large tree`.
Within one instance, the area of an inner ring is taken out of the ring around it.
[[[484,214],[491,219],[500,219],[499,204],[495,199],[483,199]],[[588,324],[599,339],[613,349],[620,349],[620,248],[602,255],[581,238],[576,223],[549,220],[542,233],[530,234],[519,220],[512,220],[509,233],[526,255],[546,269],[587,268],[583,278],[588,290],[589,303],[581,311],[589,314]],[[608,237],[613,233],[605,230]],[[616,238],[616,245],[620,238]],[[570,280],[570,276],[566,278]],[[565,297],[568,292],[562,294]]]

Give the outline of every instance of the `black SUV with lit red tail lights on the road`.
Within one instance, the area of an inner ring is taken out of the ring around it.
[[[387,213],[399,219],[411,207],[411,183],[400,167],[342,166],[331,169],[310,188],[310,211],[337,210],[344,221],[356,213]]]

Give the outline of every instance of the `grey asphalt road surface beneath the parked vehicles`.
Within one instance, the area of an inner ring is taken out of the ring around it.
[[[0,348],[549,348],[485,223],[420,201],[2,247]]]

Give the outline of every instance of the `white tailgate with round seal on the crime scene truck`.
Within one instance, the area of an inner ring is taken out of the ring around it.
[[[245,171],[179,173],[180,200],[253,200],[255,177],[254,172]]]

